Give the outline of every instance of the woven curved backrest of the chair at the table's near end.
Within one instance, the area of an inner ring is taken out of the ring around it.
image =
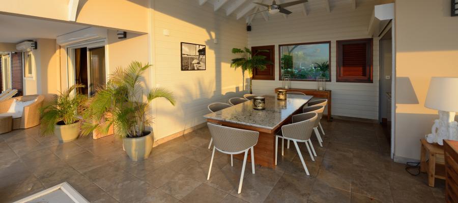
[[[215,147],[224,152],[241,152],[256,145],[259,132],[207,123]]]

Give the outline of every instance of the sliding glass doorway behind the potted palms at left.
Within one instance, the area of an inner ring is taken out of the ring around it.
[[[82,84],[79,93],[94,95],[106,81],[104,42],[68,47],[67,51],[71,56],[69,86]]]

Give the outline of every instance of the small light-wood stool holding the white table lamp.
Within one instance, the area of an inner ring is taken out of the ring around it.
[[[445,180],[444,146],[421,139],[420,172],[428,174],[428,185],[434,187],[435,178]],[[426,163],[426,153],[429,155]]]

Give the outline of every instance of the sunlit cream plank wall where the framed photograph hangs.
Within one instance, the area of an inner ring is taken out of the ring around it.
[[[235,57],[231,49],[246,46],[245,21],[226,17],[223,10],[214,12],[211,4],[190,2],[154,1],[155,85],[170,89],[178,100],[175,107],[162,98],[156,101],[155,140],[205,122],[210,103],[243,95],[242,74],[230,63]],[[163,35],[164,29],[170,36]],[[181,71],[180,42],[207,46],[206,71]]]

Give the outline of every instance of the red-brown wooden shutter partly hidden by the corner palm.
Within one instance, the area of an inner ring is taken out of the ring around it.
[[[257,50],[268,50],[269,52],[260,52],[258,55],[266,56],[267,60],[272,61],[272,64],[267,64],[267,68],[263,71],[254,70],[253,71],[253,80],[275,80],[275,46],[260,46],[260,47],[251,47],[251,52],[255,53]]]

